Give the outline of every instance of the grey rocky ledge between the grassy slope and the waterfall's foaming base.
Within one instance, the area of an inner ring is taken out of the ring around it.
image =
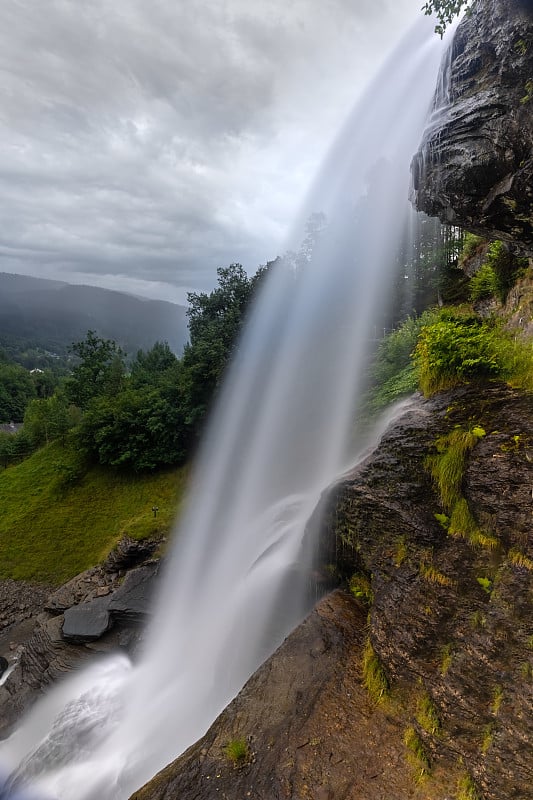
[[[0,737],[43,690],[96,654],[118,648],[135,656],[151,612],[158,545],[124,537],[101,566],[53,591],[0,583],[0,597],[11,596],[0,633],[0,672],[9,670],[0,683]]]

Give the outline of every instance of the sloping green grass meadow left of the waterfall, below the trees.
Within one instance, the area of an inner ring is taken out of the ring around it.
[[[168,532],[185,480],[183,468],[133,475],[86,467],[59,443],[38,450],[0,472],[0,578],[59,585],[98,564],[124,534]]]

